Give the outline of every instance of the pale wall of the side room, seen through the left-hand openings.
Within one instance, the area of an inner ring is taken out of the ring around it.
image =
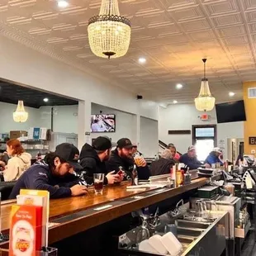
[[[9,132],[10,130],[28,130],[30,127],[39,126],[50,129],[51,106],[40,108],[25,107],[29,113],[29,118],[25,123],[16,123],[12,120],[12,112],[17,105],[0,102],[0,116],[2,122],[0,133]],[[92,114],[115,114],[116,115],[116,132],[113,133],[92,133],[90,140],[100,135],[107,135],[112,141],[127,137],[133,143],[140,140],[139,149],[145,156],[153,157],[158,150],[158,122],[149,118],[140,116],[140,138],[136,138],[136,115],[119,111],[110,107],[105,107],[92,103]],[[78,133],[78,105],[72,106],[55,106],[54,107],[54,131],[66,133]],[[85,140],[83,140],[83,144]]]

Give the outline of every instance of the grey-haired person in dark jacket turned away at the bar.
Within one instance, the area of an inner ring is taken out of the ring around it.
[[[173,160],[172,153],[169,149],[164,149],[161,154],[161,158],[155,160],[150,165],[151,175],[162,175],[171,173],[171,168],[176,164],[176,161]]]

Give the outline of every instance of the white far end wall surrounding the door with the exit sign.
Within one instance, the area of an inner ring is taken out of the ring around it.
[[[170,105],[167,108],[159,108],[159,140],[164,143],[173,143],[181,153],[187,152],[192,145],[192,135],[168,135],[168,130],[192,130],[192,125],[216,125],[215,109],[207,112],[211,121],[201,121],[198,116],[202,112],[197,111],[193,104]],[[217,124],[217,141],[225,142],[225,156],[227,155],[227,139],[244,138],[244,122],[232,122]]]

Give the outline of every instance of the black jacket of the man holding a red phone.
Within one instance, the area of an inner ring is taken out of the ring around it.
[[[93,173],[104,173],[104,183],[107,184],[107,168],[105,162],[102,162],[101,159],[98,158],[96,151],[91,145],[87,143],[83,145],[79,159],[83,171],[85,172],[83,178],[89,185],[93,183]]]

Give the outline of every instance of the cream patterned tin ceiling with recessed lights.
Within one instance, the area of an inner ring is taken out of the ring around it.
[[[204,57],[217,102],[229,100],[230,91],[241,98],[242,82],[256,80],[256,0],[119,0],[132,23],[131,44],[125,57],[111,60],[92,55],[88,45],[88,19],[101,1],[69,2],[59,9],[55,0],[1,0],[1,26],[37,50],[159,102],[192,102]],[[147,62],[139,64],[140,57]]]

